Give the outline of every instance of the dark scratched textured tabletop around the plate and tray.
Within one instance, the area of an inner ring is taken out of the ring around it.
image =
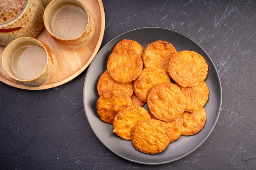
[[[126,31],[157,26],[204,48],[222,84],[213,132],[180,160],[140,165],[113,154],[92,132],[83,108],[87,69],[41,91],[0,82],[0,169],[256,169],[256,1],[103,0],[103,5],[102,46]]]

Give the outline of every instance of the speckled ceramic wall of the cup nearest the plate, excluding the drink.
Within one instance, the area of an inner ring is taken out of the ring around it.
[[[61,7],[62,3],[64,2],[71,2],[74,4],[77,4],[81,8],[85,10],[88,16],[88,24],[85,28],[85,31],[79,36],[74,39],[61,39],[56,37],[52,31],[50,30],[50,17],[52,13],[58,8]],[[94,25],[94,20],[92,18],[92,15],[90,15],[88,9],[85,7],[83,3],[81,3],[79,0],[53,0],[48,4],[48,6],[45,8],[44,12],[44,24],[47,32],[51,35],[51,37],[56,41],[56,43],[59,46],[62,46],[63,48],[67,49],[75,49],[75,48],[80,48],[82,46],[85,46],[90,42],[94,35],[95,31],[95,25]]]

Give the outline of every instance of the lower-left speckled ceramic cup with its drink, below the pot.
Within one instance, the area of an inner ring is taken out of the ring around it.
[[[52,50],[42,41],[21,37],[9,43],[2,54],[4,71],[21,85],[38,87],[49,82],[57,69]]]

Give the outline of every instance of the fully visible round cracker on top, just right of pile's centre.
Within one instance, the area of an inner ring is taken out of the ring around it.
[[[177,85],[165,82],[151,89],[147,104],[155,118],[169,122],[182,115],[186,107],[186,99]]]

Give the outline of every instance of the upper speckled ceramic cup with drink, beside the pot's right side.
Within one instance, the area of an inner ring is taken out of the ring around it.
[[[44,24],[48,33],[63,48],[80,48],[92,39],[94,21],[79,0],[53,0],[45,8]]]

